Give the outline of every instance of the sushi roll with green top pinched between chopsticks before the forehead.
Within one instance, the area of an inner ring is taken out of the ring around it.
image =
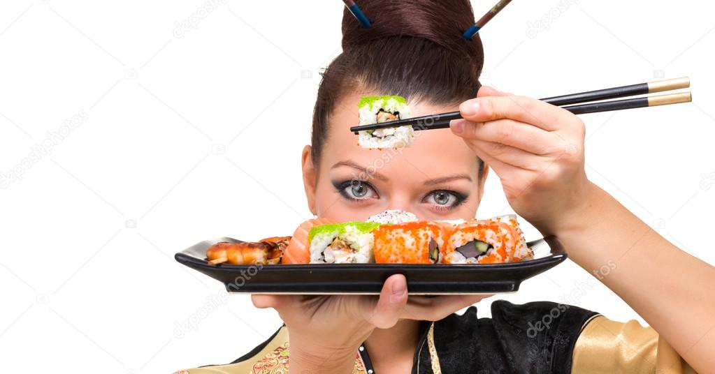
[[[360,126],[410,118],[410,107],[402,96],[365,96],[358,103]],[[358,143],[363,148],[403,148],[412,145],[412,126],[359,131]]]

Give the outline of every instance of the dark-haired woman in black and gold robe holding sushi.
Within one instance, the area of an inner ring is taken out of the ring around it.
[[[578,117],[480,87],[480,39],[460,36],[474,21],[468,1],[360,6],[373,26],[343,15],[343,52],[325,71],[302,153],[310,211],[335,221],[386,209],[473,218],[495,174],[514,211],[558,237],[569,258],[589,273],[610,266],[601,281],[651,327],[547,302],[495,302],[492,318],[478,320],[473,308],[453,313],[481,296],[408,298],[398,275],[379,298],[253,295],[285,326],[232,364],[187,372],[287,373],[289,363],[290,373],[314,374],[714,372],[715,268],[588,181]],[[373,94],[405,96],[414,116],[459,110],[465,119],[399,151],[363,149],[348,128],[360,97]]]

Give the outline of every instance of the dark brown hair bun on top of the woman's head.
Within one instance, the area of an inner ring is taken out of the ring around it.
[[[346,8],[342,16],[343,50],[391,36],[413,36],[432,41],[454,54],[483,61],[479,34],[471,40],[462,36],[474,24],[468,0],[359,0],[356,3],[373,26],[363,28]]]

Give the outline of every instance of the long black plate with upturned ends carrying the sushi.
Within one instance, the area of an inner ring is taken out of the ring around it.
[[[202,241],[177,253],[174,258],[224,283],[232,293],[378,295],[385,279],[398,273],[407,278],[411,295],[506,293],[518,290],[521,282],[566,260],[561,243],[554,237],[547,237],[527,243],[534,258],[516,263],[209,265],[206,250],[221,241],[240,242],[233,238]]]

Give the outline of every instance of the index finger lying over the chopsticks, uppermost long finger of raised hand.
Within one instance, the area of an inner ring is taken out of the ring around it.
[[[565,109],[524,96],[481,96],[463,102],[459,106],[463,118],[472,122],[495,121],[511,118],[531,123],[546,131],[555,131],[565,126],[565,118],[573,114]],[[565,116],[568,113],[568,116]]]

